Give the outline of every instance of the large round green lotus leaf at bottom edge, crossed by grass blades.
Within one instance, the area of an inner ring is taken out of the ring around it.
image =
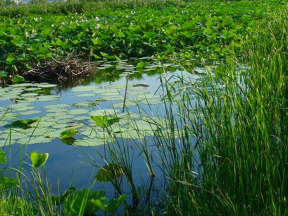
[[[64,201],[66,215],[93,215],[99,211],[99,207],[92,203],[92,199],[101,199],[104,192],[99,190],[92,192],[89,189],[81,189],[70,194]]]

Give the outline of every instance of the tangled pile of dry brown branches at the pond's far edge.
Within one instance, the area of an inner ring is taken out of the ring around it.
[[[34,69],[25,72],[24,77],[29,80],[76,80],[92,75],[92,69],[82,64],[76,57],[48,62],[45,65],[38,63]]]

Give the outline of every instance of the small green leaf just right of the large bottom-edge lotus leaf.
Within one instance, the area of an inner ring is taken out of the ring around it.
[[[101,199],[92,199],[92,203],[101,208],[106,213],[112,213],[125,201],[128,195],[121,195],[118,198],[107,199],[105,196]]]

